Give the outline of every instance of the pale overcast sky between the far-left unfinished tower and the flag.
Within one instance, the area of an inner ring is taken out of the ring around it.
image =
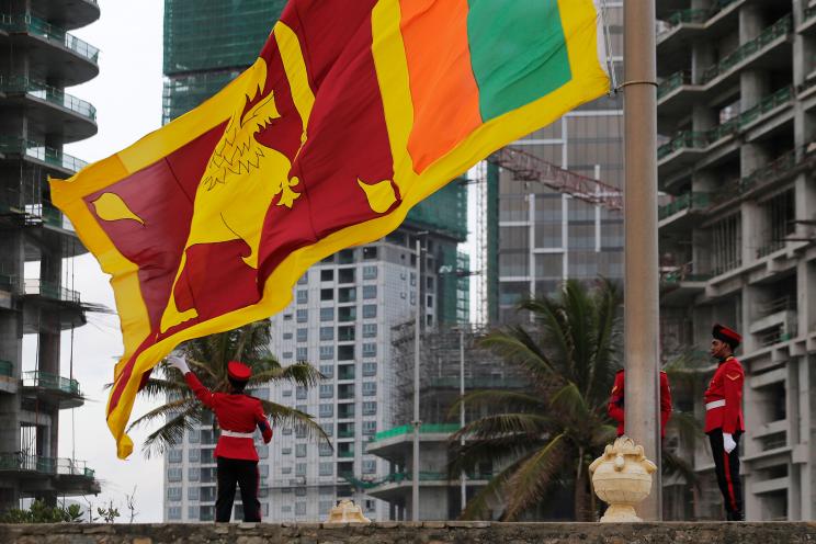
[[[101,18],[71,33],[99,47],[100,75],[92,81],[68,89],[70,94],[97,107],[99,133],[84,141],[66,146],[66,152],[89,162],[105,158],[136,141],[161,125],[162,0],[99,0]],[[81,294],[83,302],[114,308],[109,277],[97,260],[86,254],[66,261],[67,283]],[[72,270],[71,270],[72,267]],[[71,273],[72,272],[72,273]],[[122,353],[117,317],[89,315],[88,325],[76,330],[73,374],[88,401],[60,413],[59,456],[76,456],[97,471],[102,495],[95,503],[113,500],[123,518],[125,494],[136,489],[140,522],[161,521],[162,462],[146,461],[139,451],[145,432],[133,433],[136,446],[128,461],[116,457],[115,442],[105,424],[107,398],[103,385],[113,379],[113,365]],[[26,338],[24,358],[33,365],[33,338]],[[63,335],[63,374],[68,374],[70,335]],[[134,415],[145,411],[137,401]],[[71,452],[73,450],[73,454]]]

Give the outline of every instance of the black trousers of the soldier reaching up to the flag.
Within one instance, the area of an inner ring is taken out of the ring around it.
[[[233,514],[236,484],[241,488],[243,521],[261,521],[258,500],[258,462],[218,457],[218,498],[215,501],[215,521],[228,522]]]

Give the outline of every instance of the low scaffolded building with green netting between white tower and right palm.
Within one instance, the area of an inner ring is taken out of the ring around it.
[[[521,389],[528,382],[518,367],[480,348],[487,331],[478,327],[424,331],[419,352],[419,520],[456,519],[464,505],[487,485],[494,467],[480,466],[464,478],[449,477],[451,435],[465,422],[486,416],[455,408],[462,393],[480,389]],[[350,478],[365,492],[388,503],[388,519],[411,520],[415,328],[394,327],[392,426],[365,445],[367,454],[388,462],[385,476]]]

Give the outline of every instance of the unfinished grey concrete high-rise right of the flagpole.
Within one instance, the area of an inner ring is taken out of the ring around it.
[[[743,333],[750,520],[816,515],[816,4],[657,2],[661,345]],[[714,370],[712,362],[710,371]],[[711,374],[709,374],[710,376]],[[704,387],[704,385],[703,385]],[[702,389],[694,398],[702,420]],[[689,515],[723,519],[706,440]]]

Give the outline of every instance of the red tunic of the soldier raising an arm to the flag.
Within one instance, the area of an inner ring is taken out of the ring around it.
[[[222,432],[251,433],[254,432],[256,427],[260,427],[263,442],[269,443],[272,440],[272,428],[267,421],[267,415],[263,413],[263,406],[260,400],[242,394],[213,393],[204,387],[192,372],[184,374],[184,379],[186,379],[188,385],[199,400],[215,412]],[[215,446],[214,455],[216,457],[258,461],[258,452],[250,437],[225,437],[222,433],[218,438],[218,444]]]

